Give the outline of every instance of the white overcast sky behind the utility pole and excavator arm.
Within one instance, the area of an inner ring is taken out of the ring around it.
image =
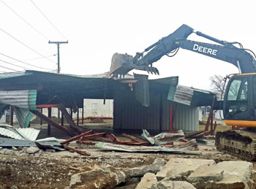
[[[0,66],[9,68],[0,70],[57,69],[57,56],[53,56],[57,47],[48,44],[48,40],[68,40],[60,49],[61,73],[108,72],[114,53],[143,52],[184,23],[195,31],[227,42],[241,42],[245,48],[255,50],[255,5],[255,1],[246,0],[0,0]],[[195,34],[188,39],[208,42]],[[180,85],[201,89],[210,88],[209,77],[213,74],[225,76],[238,72],[230,63],[183,49],[173,58],[163,57],[154,66],[159,69],[160,77],[178,76]]]

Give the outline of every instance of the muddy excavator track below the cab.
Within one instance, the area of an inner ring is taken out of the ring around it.
[[[256,161],[256,134],[250,131],[230,130],[217,132],[217,150],[248,161]]]

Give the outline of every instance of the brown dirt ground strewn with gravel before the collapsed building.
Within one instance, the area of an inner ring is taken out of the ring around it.
[[[52,131],[55,131],[54,128]],[[45,137],[46,129],[39,138]],[[61,139],[61,134],[56,136]],[[67,139],[63,136],[62,139]],[[174,143],[176,144],[176,143]],[[219,152],[214,139],[208,139],[208,145],[199,144],[201,155],[182,155],[170,153],[120,153],[99,150],[85,144],[72,144],[86,150],[91,155],[80,155],[71,151],[26,153],[27,147],[18,149],[0,149],[0,188],[65,188],[69,186],[72,174],[89,171],[95,166],[123,170],[153,163],[155,158],[202,158],[220,161],[237,161],[238,158]],[[135,188],[139,180],[127,182],[119,188]],[[118,187],[117,187],[118,188]]]

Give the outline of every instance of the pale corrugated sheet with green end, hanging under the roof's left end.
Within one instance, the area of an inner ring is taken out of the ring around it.
[[[0,103],[37,110],[37,90],[0,90]]]

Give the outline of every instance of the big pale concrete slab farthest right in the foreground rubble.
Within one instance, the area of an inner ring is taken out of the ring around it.
[[[193,184],[195,188],[249,188],[247,184],[252,174],[252,163],[246,161],[222,161],[215,166],[211,166],[211,168],[224,170],[222,180],[219,182],[212,182],[210,180],[196,182]]]

